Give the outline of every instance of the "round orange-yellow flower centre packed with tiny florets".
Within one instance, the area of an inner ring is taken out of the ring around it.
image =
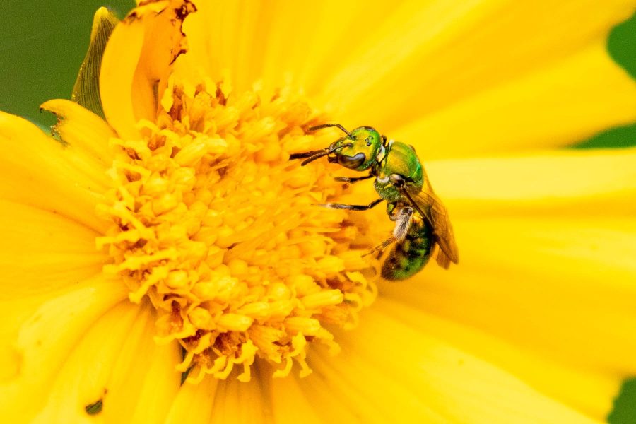
[[[247,381],[254,361],[309,374],[312,344],[337,351],[334,327],[353,327],[377,291],[365,214],[320,206],[347,190],[337,165],[289,160],[333,134],[308,134],[324,119],[285,90],[171,77],[159,105],[140,139],[110,141],[105,271],[151,302],[155,341],[182,346],[188,382]]]

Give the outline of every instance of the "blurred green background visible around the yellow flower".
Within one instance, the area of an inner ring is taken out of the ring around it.
[[[23,0],[3,1],[0,110],[49,126],[54,117],[40,114],[38,107],[49,99],[71,97],[95,10],[107,6],[122,18],[134,1],[40,0],[35,4],[37,7]],[[636,78],[636,15],[612,30],[608,50]],[[634,145],[636,124],[608,129],[581,141],[577,147]],[[636,424],[636,379],[625,381],[608,420],[613,424]]]

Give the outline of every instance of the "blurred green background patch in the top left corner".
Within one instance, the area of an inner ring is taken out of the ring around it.
[[[4,0],[0,25],[0,110],[42,126],[54,124],[40,105],[71,98],[88,49],[93,14],[106,6],[124,16],[134,0]]]

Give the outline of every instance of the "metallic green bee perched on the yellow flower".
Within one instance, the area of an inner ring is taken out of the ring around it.
[[[418,273],[430,259],[435,247],[437,264],[447,269],[457,264],[457,245],[444,204],[435,195],[415,149],[406,143],[387,140],[370,126],[347,131],[340,124],[312,126],[309,131],[336,127],[346,136],[327,148],[294,153],[290,160],[304,159],[302,166],[327,156],[330,163],[355,171],[368,171],[364,177],[336,177],[336,181],[355,183],[375,177],[379,199],[367,205],[329,203],[324,206],[351,211],[366,211],[387,201],[387,215],[395,222],[391,237],[372,249],[379,255],[395,244],[382,264],[382,277],[403,280]]]

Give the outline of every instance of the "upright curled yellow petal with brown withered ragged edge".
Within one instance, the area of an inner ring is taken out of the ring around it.
[[[146,1],[115,27],[100,70],[107,121],[124,139],[139,136],[139,119],[155,120],[158,93],[170,64],[184,51],[181,23],[194,10],[187,0]]]

